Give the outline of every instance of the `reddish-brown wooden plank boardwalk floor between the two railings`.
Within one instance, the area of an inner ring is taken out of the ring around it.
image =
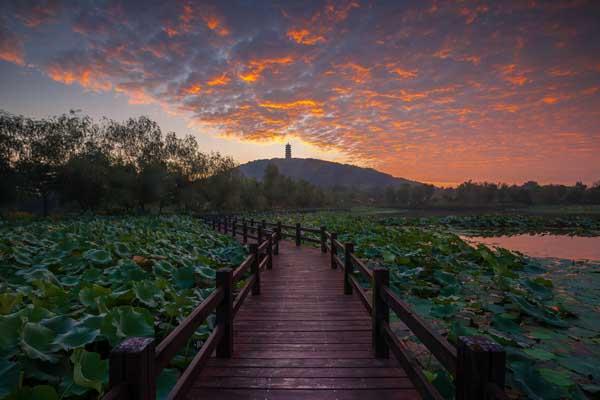
[[[232,358],[211,358],[188,399],[416,399],[392,357],[375,359],[371,319],[317,249],[280,242],[261,294],[234,322]]]

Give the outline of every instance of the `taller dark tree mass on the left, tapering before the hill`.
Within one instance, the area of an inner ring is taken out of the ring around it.
[[[163,134],[149,118],[94,122],[71,112],[33,119],[0,111],[4,210],[107,212],[323,207],[326,191],[270,169],[260,183],[193,136]]]

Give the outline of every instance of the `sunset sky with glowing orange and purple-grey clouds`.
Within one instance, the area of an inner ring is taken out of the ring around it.
[[[239,162],[600,180],[600,1],[0,2],[0,109],[148,115]]]

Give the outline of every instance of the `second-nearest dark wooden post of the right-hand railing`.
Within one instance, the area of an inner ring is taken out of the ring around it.
[[[373,314],[371,315],[371,331],[373,334],[373,354],[375,358],[388,358],[389,347],[385,340],[384,324],[390,322],[390,308],[384,301],[382,292],[385,286],[390,284],[390,271],[387,268],[375,268],[373,270],[373,288],[371,295],[371,304],[373,305]]]

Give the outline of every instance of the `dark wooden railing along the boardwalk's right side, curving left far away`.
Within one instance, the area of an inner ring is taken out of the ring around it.
[[[331,268],[343,270],[344,294],[356,292],[372,321],[372,348],[377,358],[388,358],[390,352],[396,357],[407,375],[426,399],[443,399],[437,389],[426,378],[412,351],[392,330],[389,324],[390,311],[410,329],[429,352],[454,378],[455,398],[457,400],[506,399],[504,380],[506,373],[506,355],[504,349],[494,341],[483,336],[463,336],[458,338],[457,346],[448,342],[428,322],[414,313],[410,305],[395,294],[389,286],[389,270],[386,268],[369,269],[355,254],[353,243],[341,243],[337,233],[328,232],[325,227],[319,229],[303,227],[300,224],[285,225],[281,222],[236,219],[218,217],[213,223],[235,229],[240,224],[247,230],[273,228],[281,239],[292,239],[300,246],[302,242],[318,243],[321,251],[331,254]],[[306,236],[306,233],[312,234]],[[303,235],[304,234],[304,235]],[[318,235],[319,239],[314,236]],[[245,239],[244,239],[245,240]],[[355,273],[357,272],[357,273]],[[369,288],[363,287],[363,282]]]

